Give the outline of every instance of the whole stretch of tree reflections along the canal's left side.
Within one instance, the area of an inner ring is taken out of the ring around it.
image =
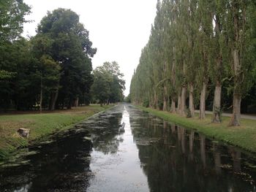
[[[95,150],[116,153],[121,142],[118,125],[122,115],[116,111],[120,110],[94,116],[75,129],[53,137],[52,143],[33,147],[31,150],[39,153],[28,157],[31,164],[0,170],[0,189],[86,191],[93,177],[89,170],[92,147],[89,133]]]

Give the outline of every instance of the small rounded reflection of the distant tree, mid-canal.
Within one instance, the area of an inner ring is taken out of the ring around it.
[[[119,125],[121,123],[122,114],[120,112],[106,117],[104,120],[104,126],[100,128],[95,128],[92,131],[92,142],[94,145],[94,150],[100,151],[104,154],[116,153],[118,151],[118,146],[123,139],[119,137],[118,132]],[[97,125],[99,126],[99,125]],[[122,133],[123,134],[123,133]]]

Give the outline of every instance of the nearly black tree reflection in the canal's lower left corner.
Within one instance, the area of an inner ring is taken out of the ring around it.
[[[84,139],[86,136],[89,136],[88,131],[70,130],[53,137],[51,143],[31,148],[37,154],[24,159],[31,164],[0,170],[0,188],[7,191],[86,191],[91,178],[91,142]]]

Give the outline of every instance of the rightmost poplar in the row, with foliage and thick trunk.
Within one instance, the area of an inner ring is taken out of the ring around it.
[[[240,126],[241,99],[252,86],[255,69],[254,1],[227,1],[225,31],[230,48],[230,71],[233,77],[233,115],[230,126]]]

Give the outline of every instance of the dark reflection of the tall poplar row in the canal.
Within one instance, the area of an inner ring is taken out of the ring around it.
[[[253,185],[235,173],[249,172],[241,170],[237,150],[154,118],[131,115],[130,124],[151,191],[254,191]],[[231,169],[221,169],[224,163]],[[255,172],[249,173],[256,178]]]

